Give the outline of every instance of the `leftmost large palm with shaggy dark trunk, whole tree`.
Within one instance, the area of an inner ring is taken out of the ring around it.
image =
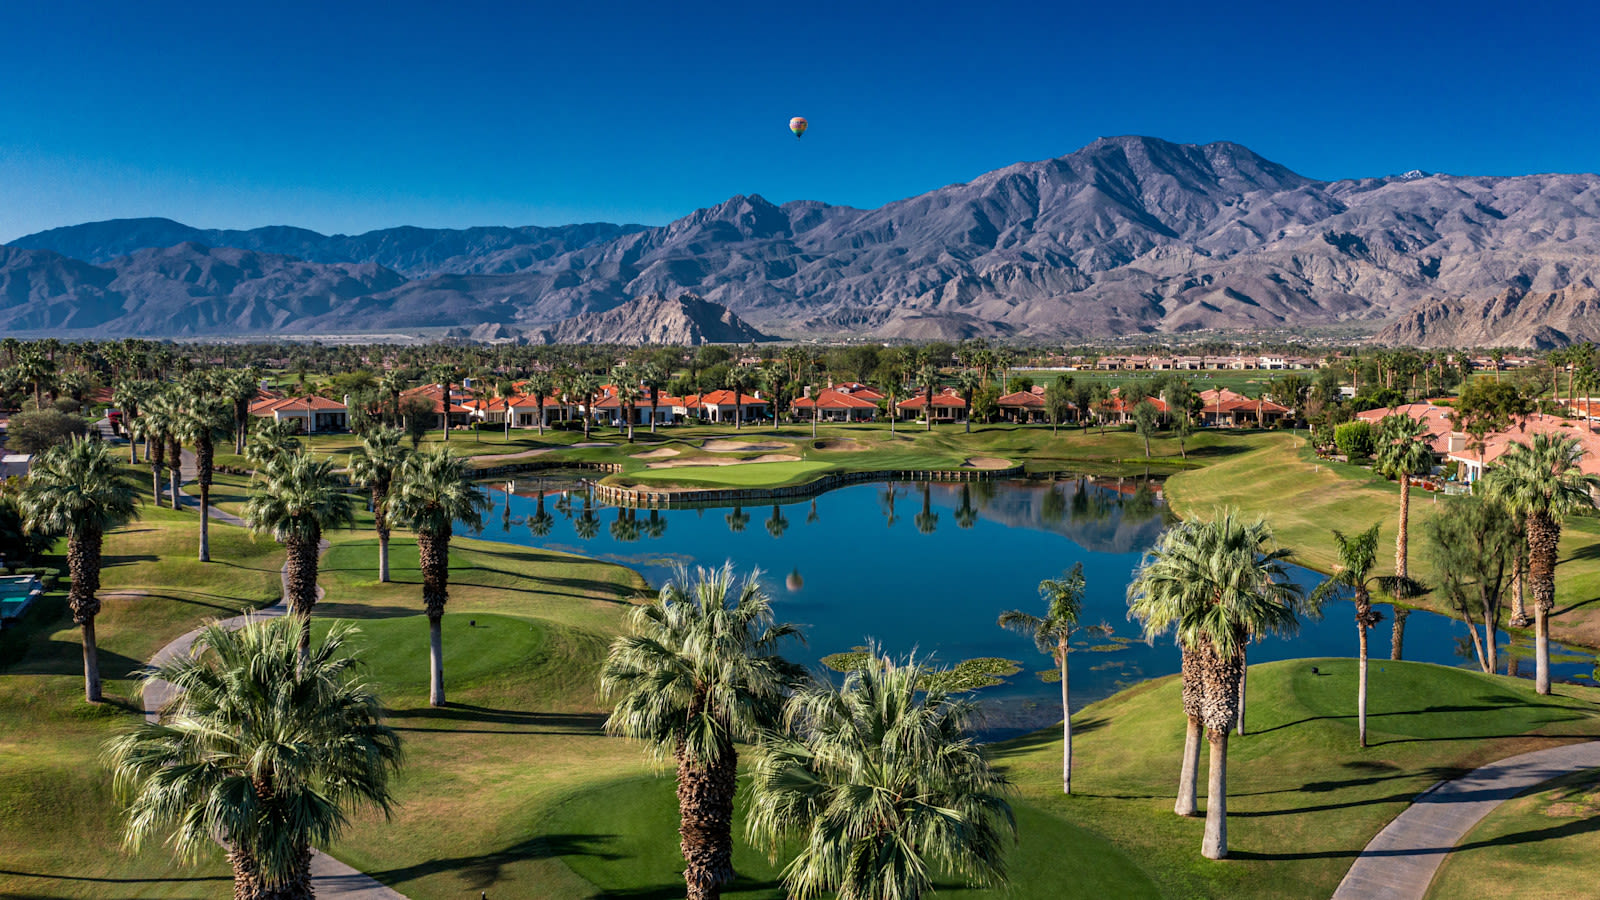
[[[99,615],[101,543],[109,528],[133,519],[134,487],[122,477],[110,445],[86,437],[45,450],[22,488],[24,527],[40,535],[66,535],[67,607],[83,631],[83,698],[99,703],[99,650],[94,617]]]

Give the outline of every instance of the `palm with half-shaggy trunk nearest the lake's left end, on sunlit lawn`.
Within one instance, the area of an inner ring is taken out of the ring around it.
[[[490,498],[472,480],[467,460],[448,448],[414,453],[400,466],[390,493],[395,519],[416,532],[422,564],[422,605],[427,610],[430,706],[445,705],[445,602],[450,599],[450,535],[456,520],[483,525]]]

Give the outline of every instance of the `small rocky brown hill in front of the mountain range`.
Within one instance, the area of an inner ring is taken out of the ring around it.
[[[562,322],[550,335],[557,344],[744,344],[770,336],[749,327],[726,306],[680,295],[642,296],[605,312],[586,312]]]

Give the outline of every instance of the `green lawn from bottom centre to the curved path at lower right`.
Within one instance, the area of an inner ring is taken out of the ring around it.
[[[1362,751],[1350,660],[1256,666],[1251,733],[1229,754],[1234,855],[1213,863],[1198,854],[1203,822],[1171,814],[1182,749],[1178,682],[1138,685],[1075,716],[1072,798],[1059,793],[1054,732],[995,748],[1018,785],[1010,890],[941,895],[1326,897],[1360,847],[1438,778],[1549,743],[1523,733],[1600,737],[1600,692],[1558,690],[1538,700],[1515,679],[1386,661],[1373,669],[1373,746]],[[605,894],[674,895],[670,778],[611,780],[563,802],[544,828]],[[747,881],[730,897],[784,897],[765,855],[744,847],[736,862]]]

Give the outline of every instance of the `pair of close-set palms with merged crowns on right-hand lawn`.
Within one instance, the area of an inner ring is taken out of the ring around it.
[[[1194,682],[1198,722],[1189,716],[1179,804],[1182,791],[1194,790],[1203,725],[1211,765],[1200,852],[1213,860],[1227,855],[1227,733],[1238,722],[1245,644],[1299,628],[1301,589],[1283,565],[1288,551],[1267,549],[1270,541],[1264,520],[1246,524],[1232,509],[1210,522],[1181,522],[1146,552],[1128,585],[1130,618],[1144,623],[1149,639],[1173,629],[1184,652],[1184,679]]]

